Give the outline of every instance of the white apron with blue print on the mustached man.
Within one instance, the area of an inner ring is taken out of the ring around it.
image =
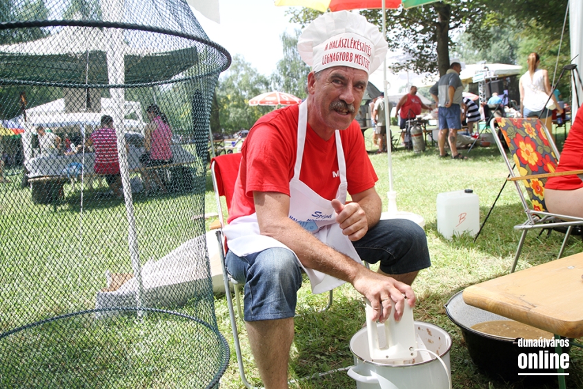
[[[299,119],[297,123],[297,155],[294,168],[294,176],[290,181],[290,212],[289,217],[299,223],[308,232],[311,232],[319,241],[342,252],[344,255],[354,259],[358,263],[360,260],[353,243],[348,237],[342,234],[342,229],[336,222],[336,213],[330,200],[324,199],[309,188],[305,183],[299,181],[299,171],[302,168],[302,158],[304,157],[304,143],[306,142],[306,129],[308,126],[308,106],[304,101],[299,106]],[[338,169],[340,185],[336,193],[336,199],[341,203],[346,202],[346,161],[342,150],[339,130],[335,131],[336,152],[338,157]],[[268,248],[288,248],[286,245],[259,234],[259,224],[257,214],[238,217],[224,228],[228,241],[228,248],[238,257],[259,252]],[[291,251],[291,250],[290,250]],[[296,255],[297,259],[297,255]],[[322,293],[332,290],[342,285],[345,281],[326,275],[317,270],[305,268],[302,262],[297,259],[299,266],[302,266],[310,279],[312,292]]]

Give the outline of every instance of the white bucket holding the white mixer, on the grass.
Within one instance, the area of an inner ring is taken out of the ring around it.
[[[377,325],[382,326],[380,323]],[[350,351],[355,357],[355,366],[348,370],[348,376],[356,381],[357,389],[450,388],[451,337],[442,328],[422,321],[415,321],[415,332],[425,343],[427,350],[439,355],[445,367],[437,358],[420,363],[413,359],[406,361],[411,363],[405,364],[374,362],[368,351],[368,332],[366,328],[362,328],[350,339]],[[382,337],[384,331],[378,328],[378,334]]]

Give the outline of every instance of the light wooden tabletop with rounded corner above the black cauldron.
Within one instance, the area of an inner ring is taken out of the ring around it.
[[[583,253],[491,279],[464,290],[471,306],[562,337],[583,337]],[[564,376],[559,376],[564,388]]]

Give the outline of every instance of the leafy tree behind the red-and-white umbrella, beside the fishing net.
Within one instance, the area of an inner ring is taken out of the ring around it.
[[[217,106],[221,128],[211,127],[213,132],[222,132],[224,129],[233,133],[241,128],[251,128],[271,108],[251,107],[249,100],[269,89],[267,77],[259,74],[243,57],[235,55],[230,68],[219,78]],[[213,121],[211,125],[216,126],[216,122]]]

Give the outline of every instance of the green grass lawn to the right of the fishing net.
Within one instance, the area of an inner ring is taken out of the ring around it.
[[[561,141],[562,130],[557,134]],[[368,149],[370,130],[366,132]],[[467,151],[462,150],[465,154]],[[477,241],[467,235],[454,237],[452,241],[444,239],[437,232],[436,197],[440,192],[471,188],[480,197],[480,223],[491,208],[502,184],[508,174],[506,166],[495,145],[489,148],[474,148],[468,154],[468,161],[437,158],[437,148],[428,147],[426,152],[414,152],[399,149],[393,152],[394,189],[397,192],[399,210],[414,212],[424,217],[432,266],[423,270],[413,284],[417,295],[414,317],[444,328],[453,339],[451,348],[451,372],[453,388],[557,388],[556,377],[549,380],[504,382],[488,377],[477,370],[464,345],[462,333],[446,316],[444,304],[456,292],[474,283],[500,277],[510,271],[515,255],[520,232],[513,226],[525,220],[524,212],[515,187],[506,185],[498,199],[490,218],[480,233]],[[383,199],[386,210],[386,192],[388,191],[388,168],[386,154],[371,154],[370,160],[375,166],[379,182],[377,192]],[[210,189],[210,188],[209,188]],[[213,192],[206,195],[207,212],[215,212]],[[553,232],[538,236],[538,232],[529,232],[522,249],[517,270],[535,266],[555,259],[564,235]],[[581,237],[571,237],[564,256],[573,255],[583,250]],[[552,291],[549,291],[552,292]],[[290,377],[301,378],[317,372],[344,368],[352,365],[350,338],[364,323],[364,308],[360,296],[348,284],[335,289],[335,301],[330,310],[315,313],[314,310],[326,304],[326,295],[312,295],[309,283],[302,286],[298,308],[302,317],[295,319],[296,335],[292,346],[290,360]],[[573,303],[579,298],[574,297]],[[243,388],[235,350],[230,336],[230,323],[225,297],[217,297],[215,310],[219,329],[224,333],[231,346],[229,368],[221,381],[224,388]],[[246,337],[245,327],[239,322],[241,343],[248,379],[259,386],[257,370],[253,365]],[[579,343],[581,339],[579,339]],[[568,388],[583,387],[583,352],[579,348],[571,351],[571,366],[566,377]],[[355,388],[355,381],[346,372],[335,372],[321,379],[300,381],[293,388]]]

